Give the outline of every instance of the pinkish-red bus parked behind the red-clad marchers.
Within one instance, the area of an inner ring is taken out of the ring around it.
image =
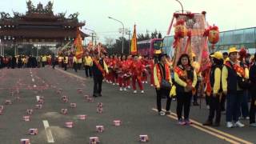
[[[155,50],[160,50],[162,46],[162,38],[152,38],[144,41],[137,42],[138,46],[138,54],[142,56],[150,56],[154,55]]]

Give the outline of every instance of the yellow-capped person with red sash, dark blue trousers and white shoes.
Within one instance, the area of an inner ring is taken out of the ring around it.
[[[238,116],[246,78],[249,78],[249,70],[243,62],[238,61],[238,50],[231,47],[229,60],[222,68],[222,90],[226,95],[226,127],[228,128],[245,126],[238,121]]]

